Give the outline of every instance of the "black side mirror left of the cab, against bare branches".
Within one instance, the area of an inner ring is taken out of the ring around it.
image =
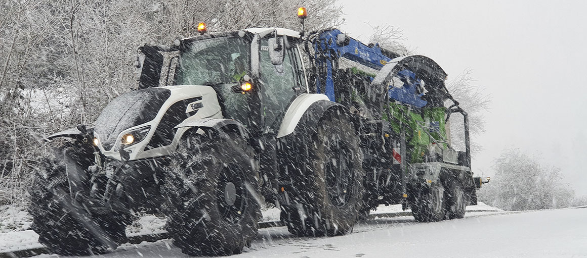
[[[151,46],[139,47],[134,67],[134,78],[139,81],[139,89],[157,87],[161,78],[163,55]]]

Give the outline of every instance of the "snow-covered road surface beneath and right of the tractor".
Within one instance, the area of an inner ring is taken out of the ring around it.
[[[104,257],[187,256],[160,240],[122,246]],[[471,212],[436,223],[416,223],[411,216],[375,219],[333,238],[261,229],[250,249],[232,257],[587,257],[587,209]]]

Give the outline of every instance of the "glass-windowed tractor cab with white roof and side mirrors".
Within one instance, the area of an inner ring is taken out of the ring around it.
[[[146,45],[137,57],[139,88],[207,85],[217,92],[223,118],[252,133],[276,133],[289,104],[308,91],[300,41],[294,30],[254,28],[189,37],[171,47]],[[165,52],[176,56],[161,73]]]

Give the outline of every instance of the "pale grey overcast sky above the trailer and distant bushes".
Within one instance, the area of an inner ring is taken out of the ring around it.
[[[341,29],[365,40],[397,26],[405,44],[455,78],[473,69],[492,97],[475,174],[508,147],[539,154],[587,195],[587,1],[343,0]]]

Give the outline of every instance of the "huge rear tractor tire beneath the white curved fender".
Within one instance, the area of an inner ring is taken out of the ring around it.
[[[298,236],[344,235],[363,208],[363,168],[359,137],[345,114],[330,113],[318,122],[311,141],[302,147],[293,186],[303,212],[288,221]]]

